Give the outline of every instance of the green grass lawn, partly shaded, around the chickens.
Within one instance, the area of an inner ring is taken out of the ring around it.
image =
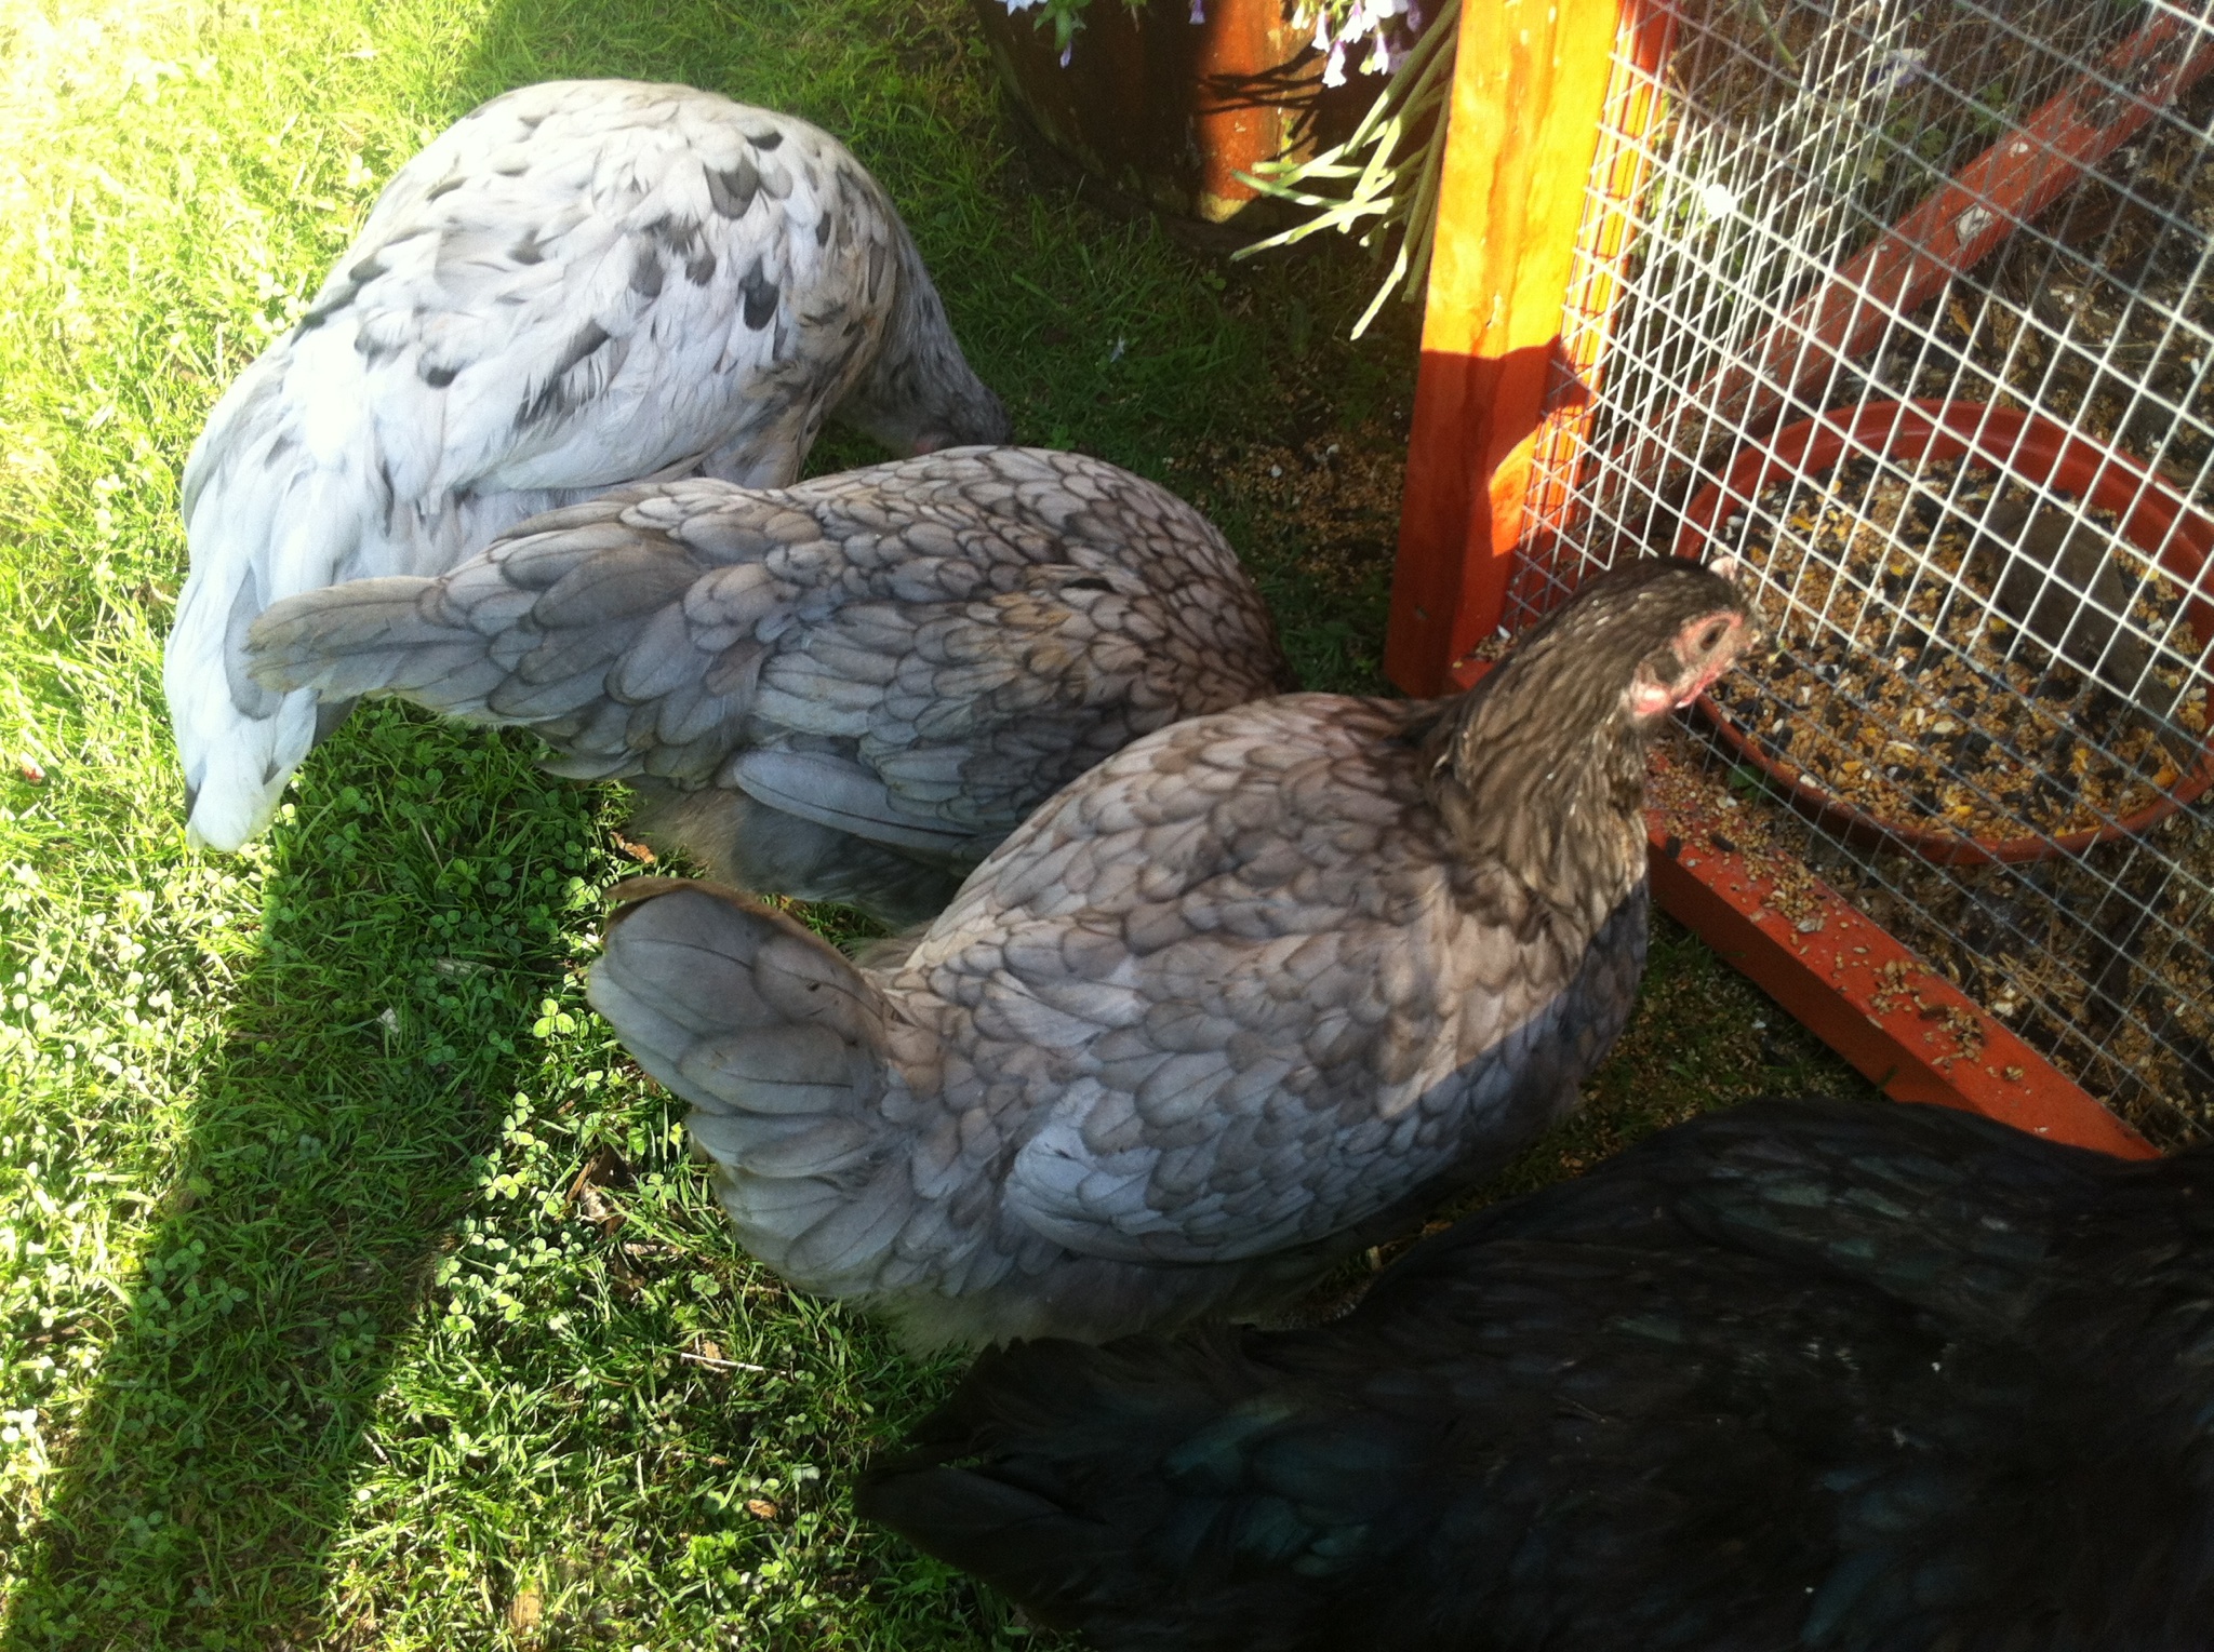
[[[1382,544],[1317,544],[1240,456],[1397,440],[1408,323],[1348,349],[1366,263],[1224,268],[1041,186],[952,0],[0,0],[4,1652],[1049,1639],[852,1524],[848,1468],[954,1367],[753,1269],[584,1011],[615,798],[383,708],[263,845],[184,849],[184,453],[407,153],[571,73],[844,133],[1018,433],[1171,478],[1306,679],[1375,683]],[[1517,1179],[1838,1079],[1663,924]]]

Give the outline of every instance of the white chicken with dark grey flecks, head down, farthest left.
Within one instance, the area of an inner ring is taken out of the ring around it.
[[[629,80],[525,86],[456,122],[186,460],[164,686],[193,843],[259,832],[345,714],[246,675],[272,602],[445,573],[618,482],[790,482],[828,416],[899,453],[1010,433],[837,139]]]

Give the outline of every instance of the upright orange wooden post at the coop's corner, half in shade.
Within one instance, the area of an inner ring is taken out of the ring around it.
[[[1623,11],[1463,0],[1384,670],[1441,694],[1499,626],[1528,453],[1561,358],[1576,230]]]

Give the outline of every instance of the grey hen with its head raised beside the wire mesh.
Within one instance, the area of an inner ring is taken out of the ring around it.
[[[903,958],[629,885],[591,1002],[744,1245],[914,1345],[1253,1314],[1574,1106],[1645,962],[1649,736],[1751,635],[1634,562],[1459,699],[1149,734]]]

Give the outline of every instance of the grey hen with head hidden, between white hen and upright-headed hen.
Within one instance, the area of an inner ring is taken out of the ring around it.
[[[270,690],[520,723],[631,781],[649,843],[894,924],[1129,741],[1291,686],[1207,517],[1021,447],[618,489],[436,579],[288,597],[248,652]]]

